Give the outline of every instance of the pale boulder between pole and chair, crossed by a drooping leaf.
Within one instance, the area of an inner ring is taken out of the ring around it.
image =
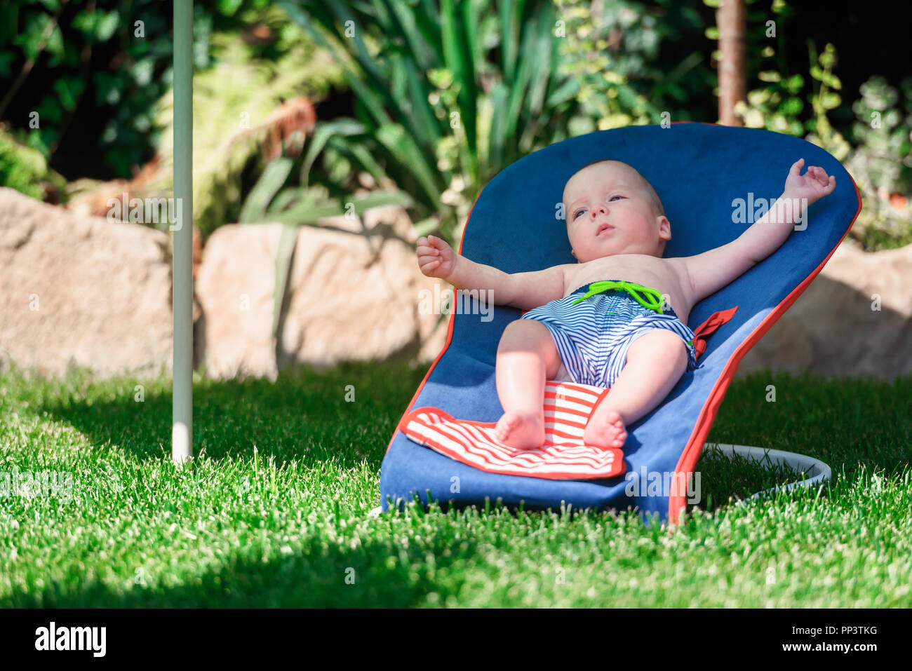
[[[208,377],[275,380],[280,368],[301,363],[437,356],[446,318],[421,315],[420,292],[449,285],[421,274],[402,208],[298,228],[276,344],[271,327],[281,232],[281,224],[232,224],[206,244],[197,295]]]

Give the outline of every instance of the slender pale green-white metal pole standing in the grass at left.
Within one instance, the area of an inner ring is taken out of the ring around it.
[[[174,315],[171,459],[193,456],[193,2],[174,0],[174,203],[171,254]]]

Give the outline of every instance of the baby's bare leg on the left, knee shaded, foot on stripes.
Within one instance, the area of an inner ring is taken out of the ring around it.
[[[503,330],[497,347],[497,395],[503,417],[494,437],[517,449],[544,443],[544,380],[557,374],[560,355],[541,322],[517,319]]]

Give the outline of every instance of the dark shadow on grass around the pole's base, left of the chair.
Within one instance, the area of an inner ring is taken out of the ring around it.
[[[210,459],[261,455],[306,464],[367,460],[379,468],[389,438],[428,366],[404,359],[344,362],[282,370],[275,383],[202,379],[193,385],[194,453]],[[137,459],[171,453],[171,378],[104,381],[73,378],[75,391],[32,404],[28,412],[65,422],[95,449],[116,447]]]

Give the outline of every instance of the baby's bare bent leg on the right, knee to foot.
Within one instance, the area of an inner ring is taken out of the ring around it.
[[[623,447],[627,427],[668,396],[687,370],[687,346],[665,329],[639,336],[627,349],[627,363],[598,405],[583,436],[586,445]]]

